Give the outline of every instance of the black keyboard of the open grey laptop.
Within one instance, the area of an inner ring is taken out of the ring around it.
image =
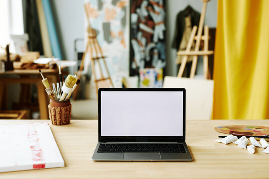
[[[106,143],[100,144],[99,153],[134,152],[134,153],[186,153],[183,144],[130,144]]]

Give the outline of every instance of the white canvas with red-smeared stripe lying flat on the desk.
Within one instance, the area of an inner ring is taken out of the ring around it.
[[[64,167],[48,123],[0,126],[0,172]]]

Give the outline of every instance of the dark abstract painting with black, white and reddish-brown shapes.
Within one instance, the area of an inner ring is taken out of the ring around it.
[[[164,2],[130,2],[130,76],[138,76],[144,68],[163,69],[166,66]]]

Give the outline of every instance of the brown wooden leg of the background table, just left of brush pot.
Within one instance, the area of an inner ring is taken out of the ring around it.
[[[38,93],[38,105],[39,105],[40,119],[48,119],[47,93],[41,82],[37,83],[36,86],[37,86],[37,93]]]

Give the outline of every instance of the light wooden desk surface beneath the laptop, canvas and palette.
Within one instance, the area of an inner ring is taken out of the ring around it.
[[[49,122],[48,120],[0,120],[3,124]],[[215,142],[215,126],[269,125],[269,120],[188,120],[186,143],[193,162],[94,162],[98,141],[97,120],[71,120],[51,130],[65,161],[64,168],[0,173],[0,179],[262,179],[268,178],[269,154],[255,154]]]

